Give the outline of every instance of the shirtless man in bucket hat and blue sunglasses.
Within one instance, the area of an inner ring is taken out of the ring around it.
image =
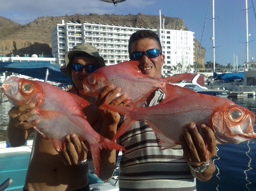
[[[83,89],[82,80],[102,66],[105,66],[105,63],[98,50],[89,44],[83,44],[66,53],[65,66],[61,68],[61,72],[72,79],[73,86],[70,91],[91,102],[91,106],[86,107],[84,112],[95,130],[102,126],[98,107],[94,98],[80,95],[79,91]],[[112,92],[116,94],[118,90],[113,89]],[[109,103],[108,100],[103,101]],[[11,146],[23,145],[34,131],[32,127],[39,123],[38,119],[26,121],[29,117],[37,115],[34,107],[34,104],[24,104],[9,111],[7,132]],[[24,185],[25,191],[89,191],[88,149],[75,134],[66,136],[63,152],[57,153],[50,140],[35,132],[33,151]]]

